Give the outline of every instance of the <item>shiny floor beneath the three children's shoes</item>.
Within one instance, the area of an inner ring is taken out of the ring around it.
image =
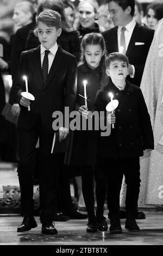
[[[163,212],[145,212],[146,220],[137,220],[140,233],[129,233],[124,229],[125,220],[121,220],[123,233],[110,235],[109,231],[86,233],[86,220],[56,222],[57,235],[41,234],[39,217],[38,227],[23,233],[17,233],[20,216],[0,216],[0,245],[163,245]],[[108,220],[109,223],[109,220]]]

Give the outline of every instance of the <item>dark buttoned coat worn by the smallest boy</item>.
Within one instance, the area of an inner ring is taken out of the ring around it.
[[[115,128],[108,137],[100,138],[99,155],[106,158],[128,158],[143,155],[143,149],[154,149],[153,131],[141,89],[126,81],[126,88],[118,90],[109,83],[98,91],[95,109],[105,111],[110,102],[109,92],[119,101],[115,110]]]

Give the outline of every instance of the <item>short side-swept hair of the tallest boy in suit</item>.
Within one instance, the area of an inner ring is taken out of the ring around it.
[[[61,28],[61,16],[57,11],[45,10],[42,11],[37,17],[37,24],[41,21],[48,27],[55,27],[56,29]]]

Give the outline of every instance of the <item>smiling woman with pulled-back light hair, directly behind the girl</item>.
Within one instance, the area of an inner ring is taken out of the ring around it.
[[[79,25],[78,32],[80,42],[83,36],[88,33],[99,33],[99,26],[95,22],[97,20],[98,2],[96,0],[83,0],[78,5]]]

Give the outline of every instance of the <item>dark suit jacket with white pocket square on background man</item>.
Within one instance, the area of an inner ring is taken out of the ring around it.
[[[109,29],[103,32],[108,54],[111,52],[118,52],[118,27]],[[129,63],[135,66],[135,77],[127,77],[130,83],[140,86],[143,70],[145,68],[146,58],[148,55],[151,42],[153,40],[154,30],[136,23],[133,34],[127,48],[126,56]],[[135,45],[135,42],[143,42],[143,45]]]

